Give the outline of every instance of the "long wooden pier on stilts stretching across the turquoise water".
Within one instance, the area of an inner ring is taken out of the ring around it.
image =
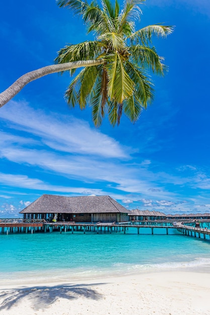
[[[193,222],[191,222],[193,223]],[[187,223],[177,222],[177,225],[173,225],[172,221],[133,221],[133,222],[113,222],[113,223],[77,223],[77,222],[46,222],[43,219],[0,219],[0,233],[11,234],[11,233],[37,233],[37,232],[94,232],[94,233],[133,233],[140,234],[141,229],[149,228],[151,234],[156,234],[158,229],[168,235],[169,229],[177,229],[179,232],[194,237],[206,238],[209,235],[210,229],[202,227],[189,226]],[[210,222],[207,223],[209,227]]]

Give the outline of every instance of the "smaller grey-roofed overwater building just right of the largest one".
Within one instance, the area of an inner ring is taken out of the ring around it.
[[[165,220],[165,213],[159,211],[138,210],[134,209],[128,213],[130,221],[153,221],[153,220]]]

